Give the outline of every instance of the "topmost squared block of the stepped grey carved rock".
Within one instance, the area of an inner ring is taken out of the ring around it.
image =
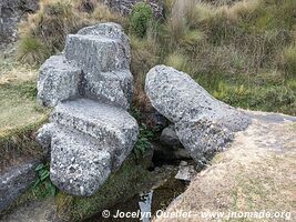
[[[113,22],[86,27],[76,34],[69,34],[64,54],[85,73],[130,69],[130,40],[122,27]]]

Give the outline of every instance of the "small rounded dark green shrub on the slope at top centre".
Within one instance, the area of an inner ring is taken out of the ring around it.
[[[146,34],[147,24],[152,17],[153,11],[150,4],[145,2],[136,3],[130,17],[131,31],[143,38]]]

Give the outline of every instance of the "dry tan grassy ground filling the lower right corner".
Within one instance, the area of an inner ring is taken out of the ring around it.
[[[296,118],[248,114],[249,128],[154,222],[296,221]]]

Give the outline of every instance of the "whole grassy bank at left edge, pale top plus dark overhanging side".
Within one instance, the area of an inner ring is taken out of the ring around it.
[[[0,56],[0,171],[41,154],[33,133],[47,120],[35,104],[37,71]]]

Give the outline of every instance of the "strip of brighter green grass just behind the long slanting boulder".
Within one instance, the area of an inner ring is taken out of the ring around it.
[[[277,73],[194,77],[215,98],[231,105],[296,115],[295,80],[285,82]]]

